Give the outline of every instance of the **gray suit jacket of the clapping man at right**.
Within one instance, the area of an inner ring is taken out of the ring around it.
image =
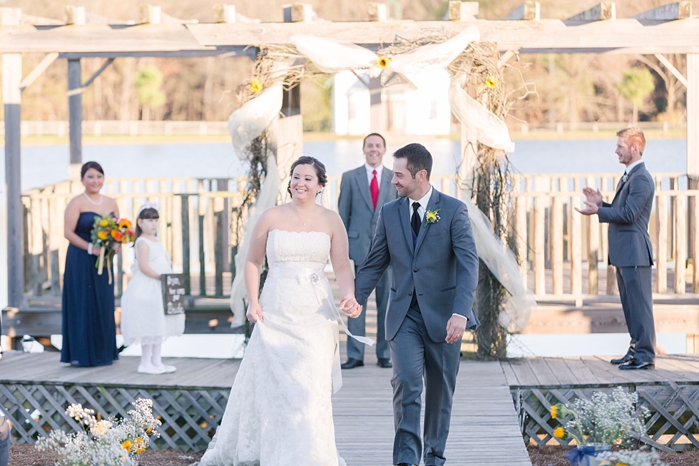
[[[609,223],[609,263],[616,267],[653,265],[653,246],[648,235],[650,208],[653,206],[655,183],[639,163],[628,173],[626,182],[619,182],[612,203],[602,203],[597,211],[599,221]]]

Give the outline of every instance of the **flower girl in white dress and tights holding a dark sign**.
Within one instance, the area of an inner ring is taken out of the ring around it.
[[[133,277],[121,297],[121,333],[124,344],[141,343],[141,364],[138,372],[163,374],[175,366],[160,360],[160,347],[171,336],[185,331],[185,315],[165,315],[160,274],[173,273],[170,255],[155,233],[158,232],[158,208],[146,203],[136,220],[136,261]]]

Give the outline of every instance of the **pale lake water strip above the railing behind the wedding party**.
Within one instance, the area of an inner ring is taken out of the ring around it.
[[[459,141],[447,138],[416,138],[434,157],[433,173],[449,175],[456,171]],[[402,143],[412,142],[402,138]],[[614,154],[615,139],[515,141],[516,151],[509,155],[514,171],[519,173],[623,173]],[[389,141],[388,153],[399,146]],[[305,155],[325,163],[327,173],[340,176],[364,162],[360,139],[307,141]],[[650,173],[684,172],[687,144],[685,139],[648,141],[643,159]],[[245,176],[247,167],[238,160],[228,143],[178,144],[103,144],[83,146],[83,161],[97,161],[108,177],[195,177],[225,178]],[[22,188],[30,189],[67,178],[68,146],[24,146],[22,148]],[[392,166],[392,158],[384,162]]]

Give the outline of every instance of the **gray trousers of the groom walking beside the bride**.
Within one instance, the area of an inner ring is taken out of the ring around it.
[[[442,466],[446,461],[444,447],[449,435],[461,343],[434,343],[427,334],[419,305],[415,303],[389,346],[393,358],[391,384],[396,429],[393,464],[420,464],[420,395],[424,378],[424,464]]]

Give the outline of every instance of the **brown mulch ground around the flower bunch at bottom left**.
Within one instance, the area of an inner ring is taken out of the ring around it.
[[[146,450],[138,457],[140,466],[189,466],[203,455],[173,450]],[[10,445],[10,466],[53,466],[50,455],[36,451],[34,445],[14,443]]]

